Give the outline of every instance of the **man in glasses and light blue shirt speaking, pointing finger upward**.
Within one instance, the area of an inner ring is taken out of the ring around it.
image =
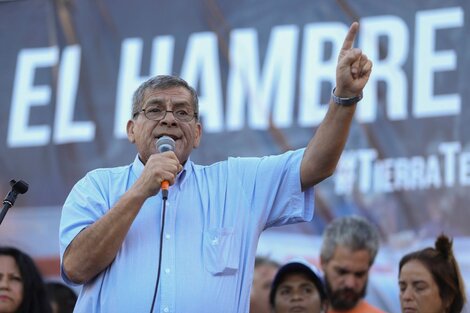
[[[195,90],[157,76],[135,91],[127,123],[134,161],[91,171],[63,207],[61,275],[83,284],[77,312],[248,312],[261,232],[310,221],[312,187],[343,151],[372,69],[353,48],[358,27],[344,40],[328,112],[304,149],[194,164],[202,135]],[[164,136],[173,151],[157,150]]]

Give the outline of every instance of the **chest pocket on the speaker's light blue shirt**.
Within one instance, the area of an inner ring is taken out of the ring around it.
[[[240,247],[233,227],[204,232],[205,268],[212,275],[233,275],[238,271]]]

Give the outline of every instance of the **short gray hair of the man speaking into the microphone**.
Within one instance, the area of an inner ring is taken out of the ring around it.
[[[132,97],[132,116],[134,117],[137,113],[139,113],[140,110],[142,110],[145,93],[147,90],[164,90],[173,87],[183,87],[189,91],[192,97],[192,104],[197,119],[199,116],[199,99],[196,90],[191,87],[184,79],[172,75],[157,75],[151,77],[143,82],[139,88],[137,88]]]

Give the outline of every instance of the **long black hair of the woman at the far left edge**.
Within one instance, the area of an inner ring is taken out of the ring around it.
[[[23,281],[23,301],[17,312],[51,313],[44,281],[31,257],[13,247],[0,247],[1,255],[11,256],[20,270]]]

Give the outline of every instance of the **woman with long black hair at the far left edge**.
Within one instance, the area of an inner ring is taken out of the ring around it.
[[[0,247],[0,313],[50,313],[46,289],[31,257]]]

